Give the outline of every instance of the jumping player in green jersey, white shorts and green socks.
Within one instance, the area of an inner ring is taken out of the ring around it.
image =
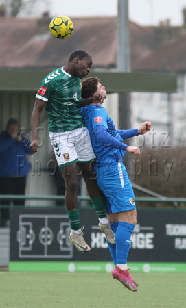
[[[80,107],[97,103],[102,97],[93,95],[88,99],[81,97],[81,79],[89,74],[92,59],[85,51],[75,51],[68,63],[57,68],[40,84],[34,110],[32,112],[32,143],[30,149],[38,151],[38,125],[44,107],[49,115],[49,136],[58,166],[65,180],[65,206],[71,225],[69,240],[78,251],[91,250],[86,244],[80,227],[78,210],[78,168],[86,183],[86,188],[100,220],[99,229],[104,232],[108,242],[115,244],[115,234],[106,218],[106,205],[95,179],[93,161],[95,154],[91,146],[89,131],[80,114]]]

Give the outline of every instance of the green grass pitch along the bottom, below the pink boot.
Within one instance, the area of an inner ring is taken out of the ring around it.
[[[137,292],[106,273],[0,272],[0,307],[185,307],[186,274],[132,276],[139,283]]]

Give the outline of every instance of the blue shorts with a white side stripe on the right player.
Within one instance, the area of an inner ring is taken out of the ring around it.
[[[122,162],[97,166],[97,184],[106,197],[107,213],[136,209],[135,195]]]

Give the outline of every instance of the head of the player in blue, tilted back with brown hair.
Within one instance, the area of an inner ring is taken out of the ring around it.
[[[106,99],[106,88],[100,84],[97,77],[89,77],[82,81],[82,99],[92,97],[94,94],[100,94],[102,100]]]

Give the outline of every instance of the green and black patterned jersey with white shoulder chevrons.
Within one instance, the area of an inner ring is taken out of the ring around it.
[[[49,131],[61,133],[86,126],[80,114],[81,79],[63,68],[51,72],[40,84],[36,98],[46,102]]]

